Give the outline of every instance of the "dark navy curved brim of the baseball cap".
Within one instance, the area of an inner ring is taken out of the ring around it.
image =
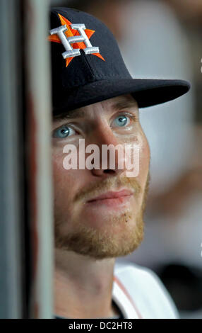
[[[163,79],[105,79],[62,92],[53,99],[54,115],[105,101],[108,98],[131,94],[139,108],[172,101],[186,94],[190,84],[183,80]]]

